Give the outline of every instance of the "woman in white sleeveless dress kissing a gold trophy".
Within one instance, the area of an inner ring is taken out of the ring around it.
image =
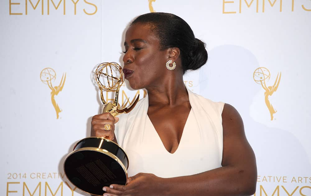
[[[184,72],[207,61],[190,26],[173,14],[144,14],[126,31],[124,47],[125,79],[148,96],[119,118],[92,119],[91,135],[113,138],[130,160],[128,183],[103,187],[104,195],[254,194],[256,161],[239,113],[184,85]]]

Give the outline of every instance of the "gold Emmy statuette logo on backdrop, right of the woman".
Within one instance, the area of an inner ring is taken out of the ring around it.
[[[271,120],[273,120],[273,114],[276,113],[276,110],[273,108],[272,104],[269,101],[269,96],[272,96],[272,94],[277,90],[277,87],[280,84],[281,80],[281,72],[280,76],[279,73],[277,73],[276,80],[273,84],[273,86],[266,85],[266,82],[270,80],[270,71],[267,68],[261,67],[257,68],[253,73],[253,79],[257,84],[261,84],[262,88],[265,90],[265,102],[268,107],[268,110],[270,112]]]

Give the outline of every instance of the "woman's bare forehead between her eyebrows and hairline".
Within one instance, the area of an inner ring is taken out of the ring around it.
[[[148,24],[135,23],[125,33],[125,42],[129,44],[132,40],[145,40],[147,43],[159,43],[159,38],[151,30]]]

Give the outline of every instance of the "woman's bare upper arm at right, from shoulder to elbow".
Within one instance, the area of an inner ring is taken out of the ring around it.
[[[257,178],[256,159],[249,145],[242,118],[231,105],[225,104],[222,112],[223,159],[222,166],[234,166],[250,178]]]

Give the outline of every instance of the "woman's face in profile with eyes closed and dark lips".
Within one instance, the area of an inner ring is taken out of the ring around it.
[[[145,24],[136,23],[125,34],[124,76],[132,89],[163,85],[168,50],[160,50],[159,38]]]

